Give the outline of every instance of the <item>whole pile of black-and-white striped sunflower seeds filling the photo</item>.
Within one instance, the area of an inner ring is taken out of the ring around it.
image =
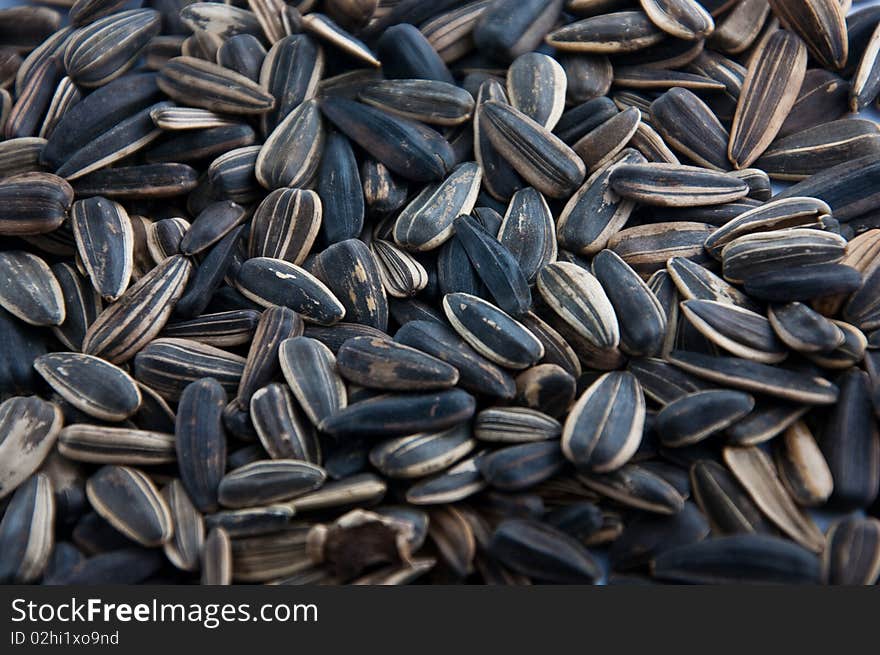
[[[880,7],[53,4],[0,582],[876,582]]]

